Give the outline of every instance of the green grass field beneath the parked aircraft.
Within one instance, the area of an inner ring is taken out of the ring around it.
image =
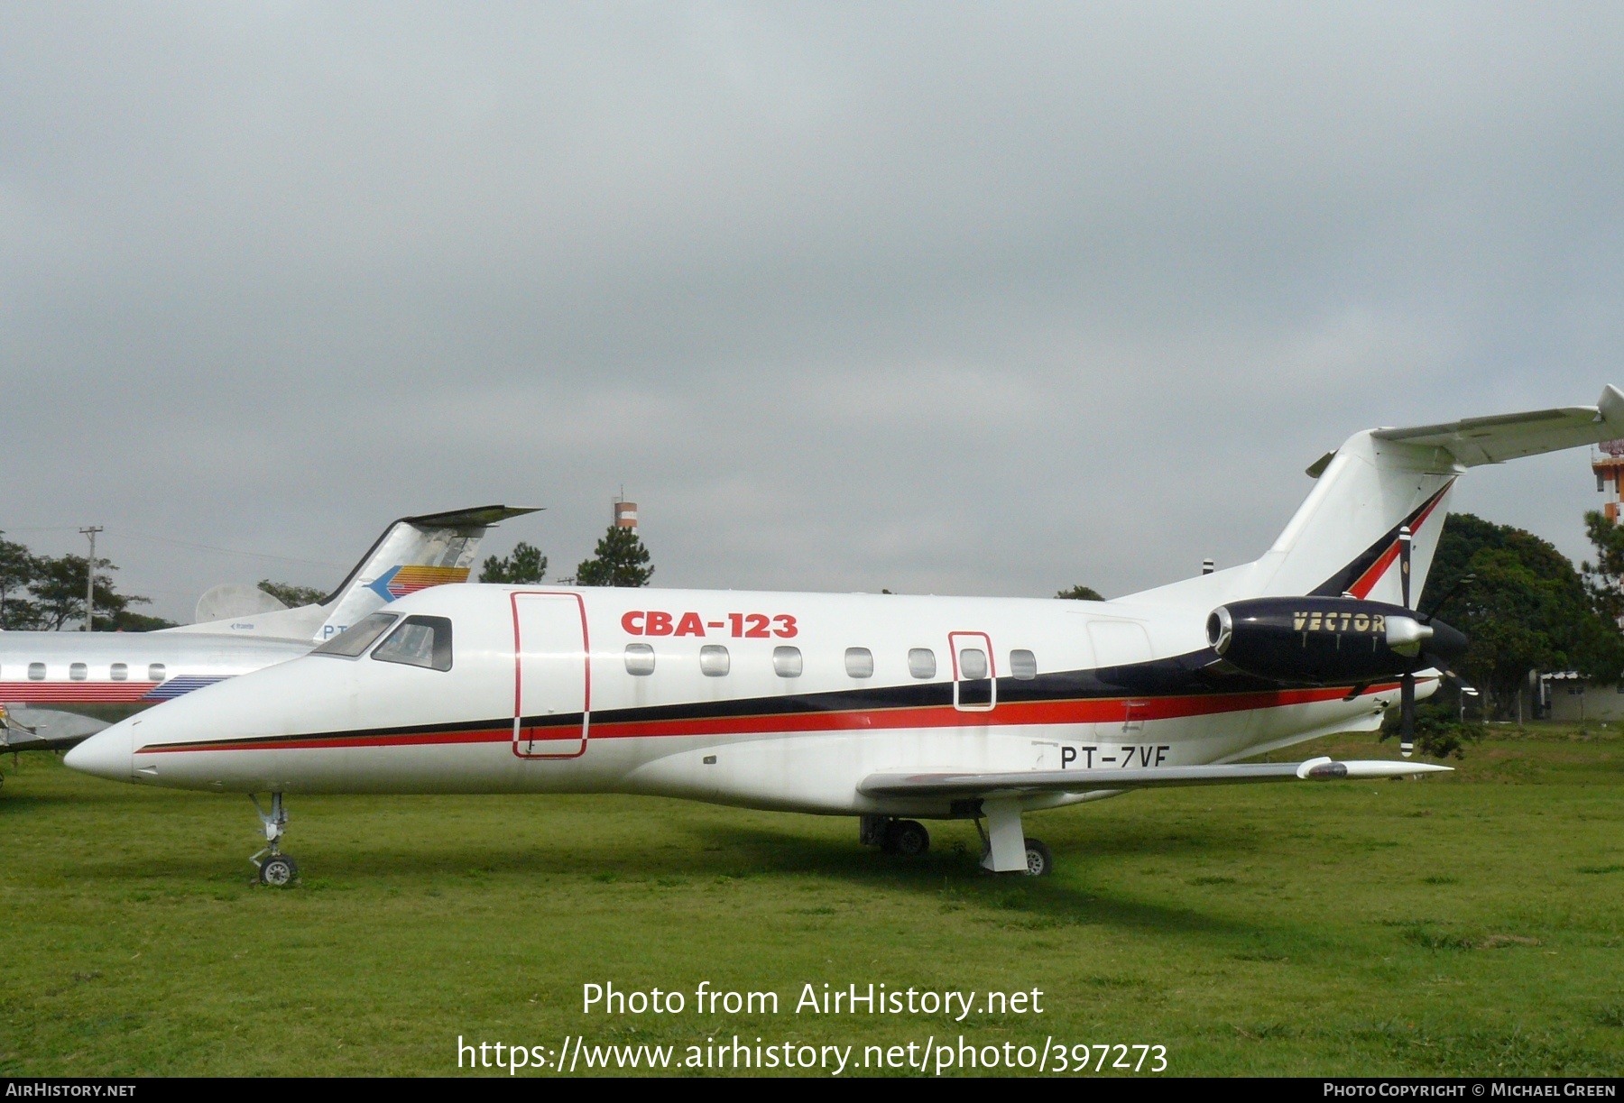
[[[1624,739],[1499,731],[1453,765],[1030,815],[1044,880],[979,874],[970,824],[932,824],[909,861],[846,819],[302,798],[304,884],[278,892],[250,884],[244,798],[24,755],[0,789],[0,1074],[455,1074],[460,1035],[857,1053],[963,1035],[1160,1043],[1169,1074],[1618,1075]],[[583,1015],[604,981],[781,1004]],[[794,1014],[825,981],[1038,988],[1043,1014]]]

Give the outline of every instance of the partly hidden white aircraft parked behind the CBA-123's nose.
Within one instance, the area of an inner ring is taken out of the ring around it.
[[[257,586],[214,586],[197,624],[158,632],[0,632],[0,750],[71,747],[107,726],[70,710],[146,708],[283,663],[396,598],[464,582],[486,530],[533,513],[484,505],[403,517],[328,598],[289,609]]]

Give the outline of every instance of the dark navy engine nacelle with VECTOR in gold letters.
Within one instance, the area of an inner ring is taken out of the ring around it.
[[[1207,642],[1247,674],[1278,682],[1376,682],[1449,666],[1466,637],[1415,609],[1358,598],[1249,598],[1207,617]]]

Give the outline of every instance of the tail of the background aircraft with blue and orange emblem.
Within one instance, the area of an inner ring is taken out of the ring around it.
[[[197,624],[166,630],[322,642],[408,593],[466,582],[486,530],[534,512],[481,505],[403,517],[383,530],[338,590],[315,604],[289,609],[258,588],[214,586],[198,601]]]

